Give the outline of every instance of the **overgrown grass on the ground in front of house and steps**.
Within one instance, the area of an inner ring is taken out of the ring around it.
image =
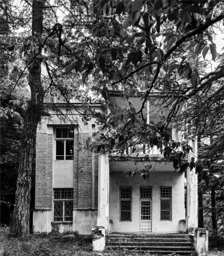
[[[223,238],[210,238],[209,256],[224,256]],[[220,247],[216,247],[219,245]],[[0,255],[1,256],[127,256],[150,255],[147,252],[139,254],[136,251],[118,250],[107,253],[92,252],[90,239],[78,235],[52,236],[30,235],[27,239],[17,239],[10,236],[10,228],[0,227]],[[161,254],[160,254],[161,255]],[[168,254],[166,256],[173,256]],[[162,255],[161,255],[162,256]]]

